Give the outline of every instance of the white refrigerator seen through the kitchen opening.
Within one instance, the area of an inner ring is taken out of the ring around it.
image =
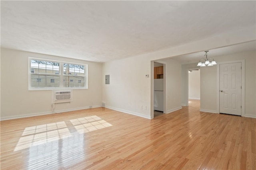
[[[154,79],[154,110],[164,111],[164,79]]]

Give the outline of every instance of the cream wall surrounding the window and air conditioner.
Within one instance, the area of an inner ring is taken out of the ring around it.
[[[28,57],[88,64],[88,89],[73,90],[73,102],[55,104],[55,111],[102,106],[102,64],[1,49],[1,120],[52,113],[51,90],[28,91]]]

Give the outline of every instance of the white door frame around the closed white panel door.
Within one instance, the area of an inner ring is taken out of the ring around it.
[[[220,113],[220,64],[231,64],[231,63],[241,63],[242,70],[241,70],[241,80],[242,80],[242,90],[241,90],[241,116],[245,116],[245,60],[235,60],[235,61],[224,61],[224,62],[218,62],[217,63],[217,84],[216,84],[216,94],[217,94],[217,113]]]

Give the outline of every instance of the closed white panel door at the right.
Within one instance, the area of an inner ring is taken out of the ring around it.
[[[220,113],[241,115],[242,63],[220,64]]]

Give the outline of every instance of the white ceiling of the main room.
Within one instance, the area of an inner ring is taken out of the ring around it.
[[[256,25],[256,1],[0,3],[1,47],[95,62],[132,57]],[[238,47],[241,45],[235,49]],[[203,55],[200,53],[201,58]],[[194,56],[180,60],[192,61]]]

